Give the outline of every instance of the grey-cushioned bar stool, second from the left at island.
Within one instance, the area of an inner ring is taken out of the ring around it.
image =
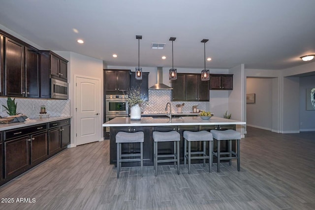
[[[155,175],[158,174],[158,163],[167,163],[167,162],[174,162],[174,168],[177,162],[177,174],[179,174],[179,141],[181,140],[181,135],[173,130],[168,132],[153,132],[153,140],[154,140],[154,170]],[[159,154],[158,155],[158,142],[173,142],[174,144],[174,152],[173,154]],[[176,142],[177,142],[177,150],[176,150]],[[173,159],[162,159],[158,160],[158,158],[164,157],[173,157]]]

